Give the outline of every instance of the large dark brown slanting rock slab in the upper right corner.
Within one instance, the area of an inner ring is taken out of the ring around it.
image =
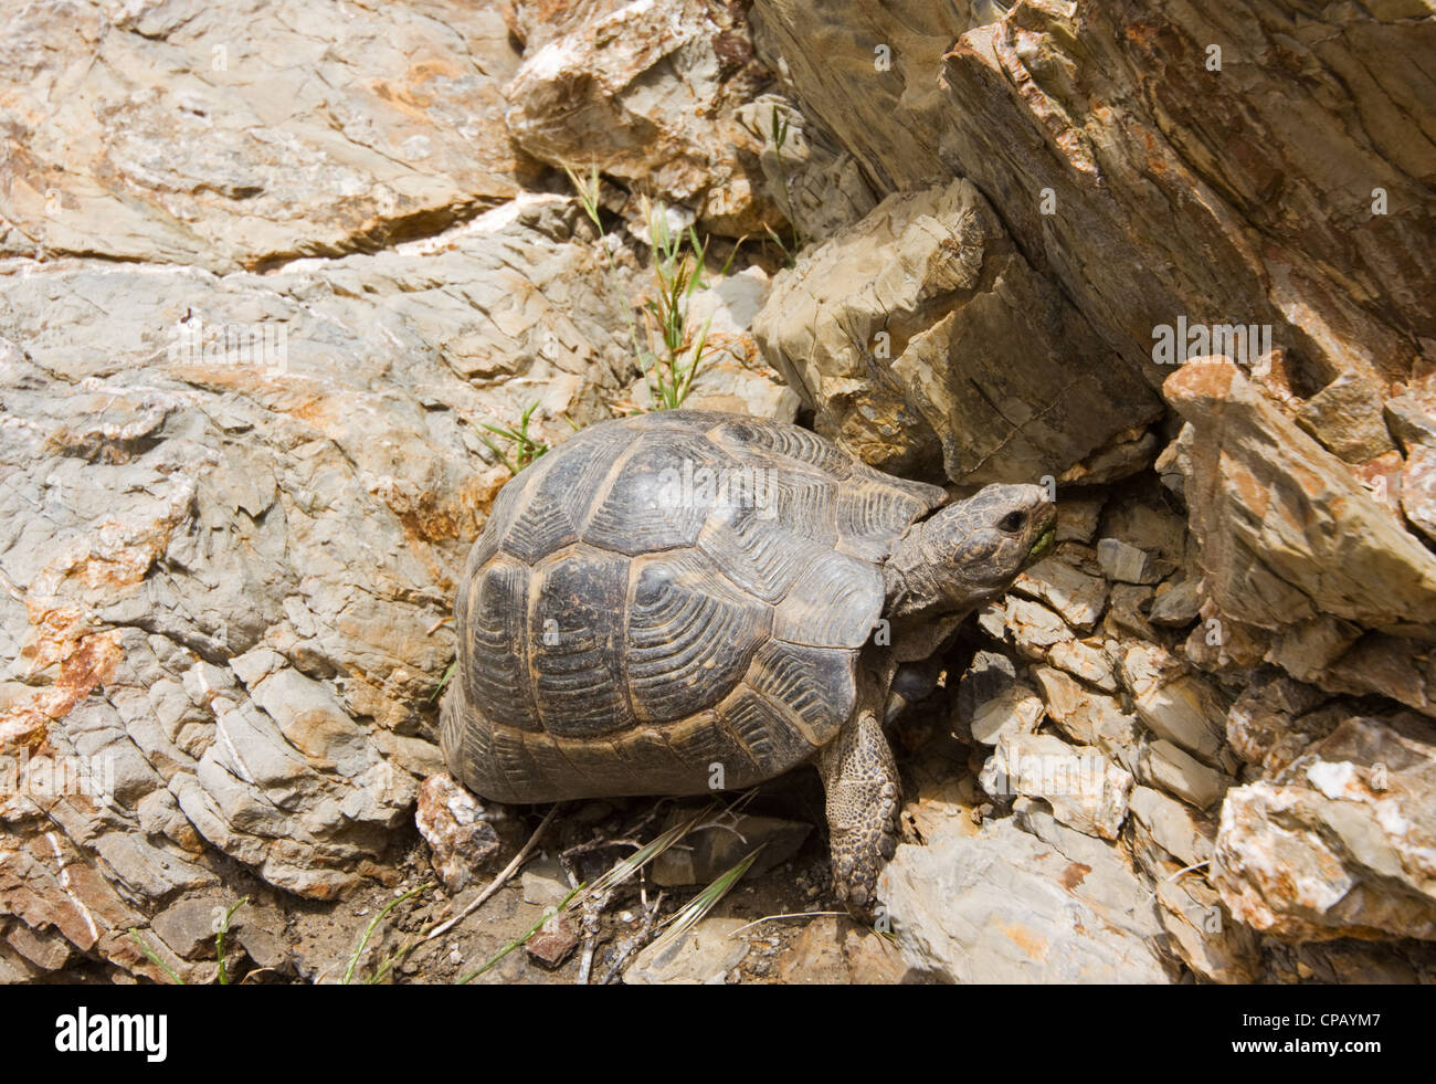
[[[1430,42],[1409,27],[1425,9],[1323,9],[1295,36],[1281,4],[1235,10],[1251,65],[1241,79],[1232,43],[1225,70],[1209,67],[1216,27],[1232,17],[1215,0],[1178,14],[1160,0],[1103,11],[1028,3],[997,22],[988,4],[913,17],[853,0],[821,11],[757,0],[751,19],[758,55],[785,66],[804,112],[869,164],[880,191],[932,184],[961,162],[1103,340],[1155,379],[1153,327],[1179,313],[1268,324],[1327,379],[1399,375],[1409,343],[1430,335],[1422,299],[1436,283],[1425,244],[1436,212],[1419,178],[1432,151],[1403,123],[1420,109],[1404,78],[1361,78],[1344,93],[1337,72],[1420,70]],[[873,43],[900,57],[893,70],[875,73]],[[1173,88],[1170,72],[1188,78]],[[1351,128],[1351,103],[1391,134],[1379,148],[1366,125]],[[1248,145],[1291,158],[1279,195],[1269,159],[1232,151]],[[1384,211],[1376,181],[1348,184],[1330,168],[1338,161],[1370,162],[1391,214],[1373,214]],[[1262,215],[1272,200],[1279,224]],[[1373,247],[1353,247],[1356,231],[1371,231]],[[1133,283],[1129,267],[1162,270]]]

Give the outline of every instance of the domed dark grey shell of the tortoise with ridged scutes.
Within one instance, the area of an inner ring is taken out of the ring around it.
[[[503,488],[470,551],[451,772],[533,803],[747,787],[811,758],[853,712],[882,563],[945,503],[783,422],[584,429]]]

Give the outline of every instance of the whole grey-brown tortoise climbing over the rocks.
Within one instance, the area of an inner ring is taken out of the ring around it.
[[[500,491],[454,603],[449,772],[500,803],[738,790],[811,761],[872,917],[898,836],[883,724],[1054,538],[1038,485],[952,500],[797,425],[600,422]]]

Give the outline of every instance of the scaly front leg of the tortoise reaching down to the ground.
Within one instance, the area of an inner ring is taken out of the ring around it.
[[[827,793],[833,887],[859,919],[872,922],[877,876],[898,847],[898,765],[872,708],[862,708],[819,757]]]

